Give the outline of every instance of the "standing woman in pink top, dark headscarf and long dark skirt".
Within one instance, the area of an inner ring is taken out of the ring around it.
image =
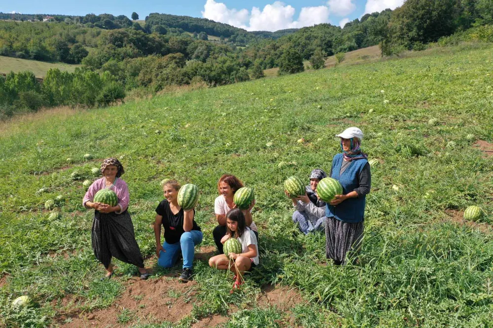
[[[94,209],[94,219],[91,233],[92,247],[96,258],[106,268],[109,279],[113,275],[111,257],[137,266],[141,279],[147,279],[149,274],[144,268],[141,250],[135,240],[134,225],[128,213],[129,192],[127,183],[120,179],[125,173],[120,161],[107,158],[101,164],[103,178],[96,180],[87,190],[82,205]],[[94,195],[104,188],[113,190],[118,196],[118,204],[109,206],[93,202]]]

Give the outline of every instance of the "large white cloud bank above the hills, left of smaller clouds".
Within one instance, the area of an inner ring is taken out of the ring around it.
[[[251,13],[247,9],[228,9],[222,2],[207,0],[202,17],[216,22],[230,24],[248,31],[278,31],[283,29],[301,28],[329,22],[327,6],[303,7],[298,20],[294,20],[296,9],[281,1],[267,4],[262,10],[253,7]]]

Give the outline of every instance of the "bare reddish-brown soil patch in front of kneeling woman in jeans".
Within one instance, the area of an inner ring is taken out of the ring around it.
[[[110,307],[78,314],[64,313],[57,318],[60,327],[114,327],[141,323],[177,322],[190,314],[196,282],[183,284],[163,277],[146,281],[132,279],[125,292]],[[71,320],[70,323],[66,321]]]

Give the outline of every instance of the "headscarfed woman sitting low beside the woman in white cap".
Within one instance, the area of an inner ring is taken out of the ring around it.
[[[315,169],[310,175],[310,185],[306,186],[304,196],[291,198],[296,211],[293,213],[293,222],[305,235],[314,231],[323,231],[325,228],[325,202],[317,198],[317,184],[327,175],[321,169]],[[285,194],[289,194],[284,190]]]

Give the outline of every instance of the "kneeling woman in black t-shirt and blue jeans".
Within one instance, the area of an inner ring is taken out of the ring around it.
[[[179,276],[182,282],[191,280],[195,246],[202,242],[203,234],[200,226],[193,219],[195,209],[184,211],[178,205],[178,190],[180,185],[176,180],[170,180],[163,185],[164,199],[156,208],[154,221],[154,236],[156,238],[157,264],[163,268],[175,265],[180,254],[183,255],[183,270]],[[161,225],[164,227],[165,242],[161,245]]]

